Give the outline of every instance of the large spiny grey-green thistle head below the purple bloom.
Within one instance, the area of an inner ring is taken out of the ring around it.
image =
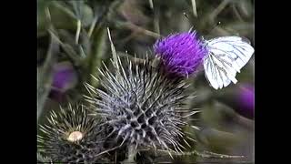
[[[181,152],[185,148],[179,142],[185,137],[183,113],[189,112],[183,105],[190,98],[183,78],[166,77],[159,67],[151,66],[148,57],[142,64],[133,64],[128,57],[125,61],[123,67],[117,56],[112,62],[115,73],[105,65],[99,69],[96,79],[103,89],[85,85],[90,93],[85,97],[95,115],[111,128],[108,138],[114,138],[116,148]]]

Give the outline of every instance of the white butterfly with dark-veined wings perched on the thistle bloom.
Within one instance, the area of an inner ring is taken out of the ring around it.
[[[236,73],[254,54],[254,48],[239,36],[222,36],[206,40],[208,55],[204,58],[206,78],[216,89],[236,84]]]

